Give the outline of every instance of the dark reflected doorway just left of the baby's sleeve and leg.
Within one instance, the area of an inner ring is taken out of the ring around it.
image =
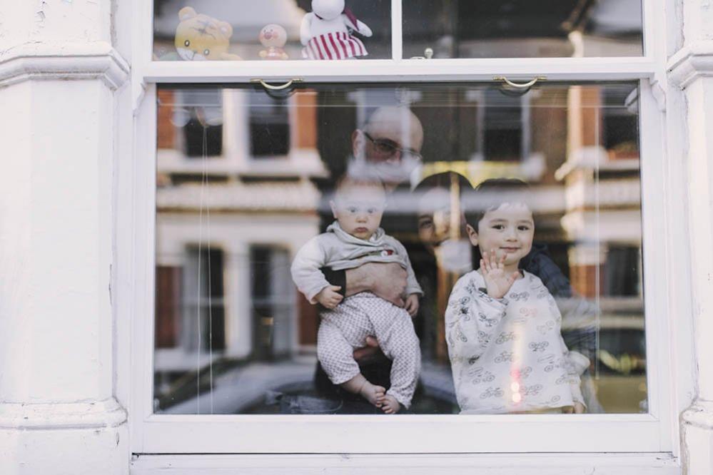
[[[253,358],[287,357],[292,349],[294,305],[290,254],[281,247],[255,245],[250,250]]]

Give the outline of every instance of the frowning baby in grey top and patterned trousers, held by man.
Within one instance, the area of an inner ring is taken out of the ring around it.
[[[403,245],[379,227],[385,200],[380,183],[340,180],[330,201],[336,221],[299,250],[292,278],[310,303],[325,307],[320,314],[317,356],[331,382],[360,394],[386,414],[395,414],[400,406],[408,409],[418,382],[421,355],[411,317],[418,311],[423,291]],[[321,267],[353,269],[365,262],[398,262],[404,267],[408,274],[405,308],[371,292],[342,300],[340,287],[330,285],[320,271]],[[354,360],[354,349],[364,347],[368,336],[375,336],[393,361],[388,391],[368,382]]]

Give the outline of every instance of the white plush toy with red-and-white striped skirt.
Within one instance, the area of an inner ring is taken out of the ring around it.
[[[309,59],[348,59],[368,53],[356,31],[371,36],[368,26],[356,19],[344,0],[312,0],[312,11],[302,19],[302,56]]]

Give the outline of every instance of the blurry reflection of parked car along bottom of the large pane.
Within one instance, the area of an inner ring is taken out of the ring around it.
[[[156,397],[157,414],[330,414],[338,404],[314,392],[316,359],[298,357],[279,362],[219,359],[190,372]],[[212,383],[211,383],[212,380]],[[450,368],[425,364],[412,411],[418,414],[458,412]],[[212,392],[211,392],[212,387]],[[198,396],[196,397],[196,392]]]

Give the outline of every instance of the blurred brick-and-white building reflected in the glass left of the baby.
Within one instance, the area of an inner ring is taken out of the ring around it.
[[[157,372],[195,369],[209,354],[290,356],[313,343],[314,312],[296,305],[289,267],[318,232],[314,99],[159,92]]]

